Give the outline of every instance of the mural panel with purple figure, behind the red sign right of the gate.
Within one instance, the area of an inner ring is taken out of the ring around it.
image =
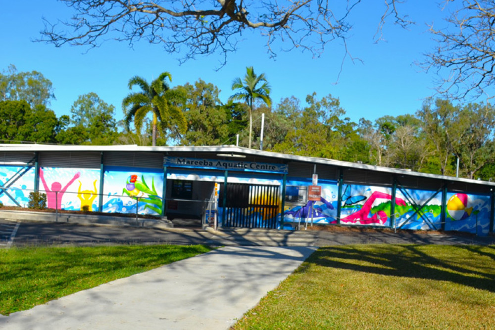
[[[337,223],[337,181],[318,180],[321,186],[321,200],[307,201],[307,186],[311,179],[289,178],[286,184],[284,229],[293,229],[296,224],[311,221],[315,224]],[[300,197],[299,197],[300,196]],[[311,213],[312,207],[312,213]]]

